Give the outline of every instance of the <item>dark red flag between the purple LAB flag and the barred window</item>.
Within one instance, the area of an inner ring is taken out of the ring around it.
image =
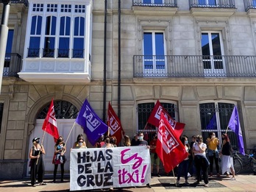
[[[121,126],[121,121],[119,120],[118,115],[115,114],[110,102],[108,103],[107,125],[110,127],[110,136],[115,136],[116,145],[118,145],[123,138],[124,130]]]

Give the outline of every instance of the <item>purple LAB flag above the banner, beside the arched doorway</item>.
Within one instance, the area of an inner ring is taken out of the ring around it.
[[[85,134],[87,135],[88,141],[94,146],[99,140],[101,135],[107,132],[107,125],[99,118],[98,115],[93,111],[85,99],[82,108],[76,119],[76,123],[82,126]]]

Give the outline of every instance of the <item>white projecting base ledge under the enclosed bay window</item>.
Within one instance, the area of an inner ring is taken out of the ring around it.
[[[44,82],[64,84],[68,82],[87,83],[90,82],[90,74],[87,73],[18,73],[26,82]]]

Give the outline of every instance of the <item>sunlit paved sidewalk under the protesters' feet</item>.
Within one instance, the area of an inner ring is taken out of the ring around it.
[[[30,185],[29,179],[24,180],[5,180],[0,181],[0,191],[3,192],[30,192],[30,191],[60,191],[66,192],[69,191],[69,180],[65,179],[64,182],[52,183],[52,179],[45,179],[47,185],[36,186],[33,188]],[[152,178],[152,188],[138,187],[138,188],[123,188],[123,189],[114,189],[114,191],[137,191],[137,192],[164,192],[164,191],[188,191],[188,192],[203,192],[203,191],[247,191],[247,192],[256,192],[256,175],[253,174],[240,174],[236,176],[235,180],[230,180],[222,177],[218,179],[217,177],[210,178],[209,187],[204,187],[203,182],[199,185],[193,185],[193,182],[196,180],[191,177],[189,179],[190,186],[183,186],[183,178],[180,179],[180,186],[176,187],[174,184],[174,177],[153,177]],[[93,190],[100,191],[100,190]],[[104,190],[108,191],[108,190]]]

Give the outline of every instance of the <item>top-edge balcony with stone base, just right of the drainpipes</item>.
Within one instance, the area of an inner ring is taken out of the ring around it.
[[[132,10],[135,15],[174,15],[177,10],[177,0],[132,0]]]

